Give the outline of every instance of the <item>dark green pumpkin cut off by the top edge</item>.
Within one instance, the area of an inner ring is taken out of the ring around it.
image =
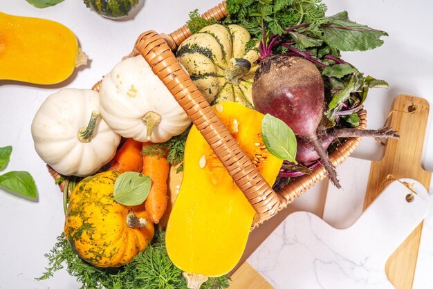
[[[116,19],[128,15],[138,0],[84,0],[84,3],[103,17]]]

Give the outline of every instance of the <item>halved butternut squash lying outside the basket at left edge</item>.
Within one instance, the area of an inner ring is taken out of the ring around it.
[[[66,26],[0,12],[0,80],[56,84],[86,63]]]

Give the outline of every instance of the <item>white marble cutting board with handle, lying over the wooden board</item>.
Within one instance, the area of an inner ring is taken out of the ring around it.
[[[393,288],[387,258],[430,205],[425,188],[407,181],[418,192],[412,203],[405,201],[407,187],[395,181],[345,230],[308,212],[289,215],[248,262],[275,288]]]

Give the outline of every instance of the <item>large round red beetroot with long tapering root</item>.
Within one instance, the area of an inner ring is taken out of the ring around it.
[[[264,59],[255,74],[252,101],[257,111],[286,122],[297,136],[311,143],[332,183],[341,187],[335,168],[317,138],[324,111],[324,85],[314,64],[284,55]]]

